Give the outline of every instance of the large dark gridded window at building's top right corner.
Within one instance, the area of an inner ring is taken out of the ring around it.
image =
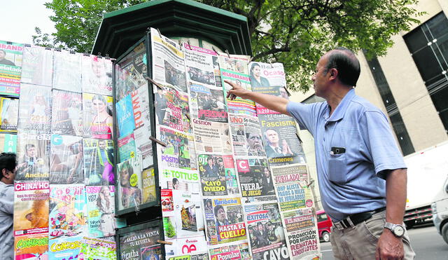
[[[448,132],[448,20],[443,12],[405,36],[407,48],[425,81],[434,107]]]

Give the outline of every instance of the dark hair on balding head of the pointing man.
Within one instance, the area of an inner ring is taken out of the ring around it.
[[[359,60],[355,54],[344,47],[337,47],[328,53],[325,73],[329,69],[337,69],[338,78],[345,85],[356,86],[360,74]]]

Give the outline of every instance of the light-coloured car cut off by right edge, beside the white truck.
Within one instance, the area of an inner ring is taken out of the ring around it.
[[[448,169],[444,169],[445,172]],[[433,222],[437,232],[442,235],[443,240],[448,244],[448,177],[444,182],[442,189],[435,197],[434,203],[431,205],[433,211]]]

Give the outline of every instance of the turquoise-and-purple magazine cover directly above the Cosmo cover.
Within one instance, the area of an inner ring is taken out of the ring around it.
[[[83,139],[84,175],[87,185],[113,185],[113,141]]]

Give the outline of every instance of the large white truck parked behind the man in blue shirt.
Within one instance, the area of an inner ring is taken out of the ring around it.
[[[433,217],[431,203],[447,177],[448,142],[417,151],[405,157],[407,165],[407,200],[403,221],[407,228]]]

